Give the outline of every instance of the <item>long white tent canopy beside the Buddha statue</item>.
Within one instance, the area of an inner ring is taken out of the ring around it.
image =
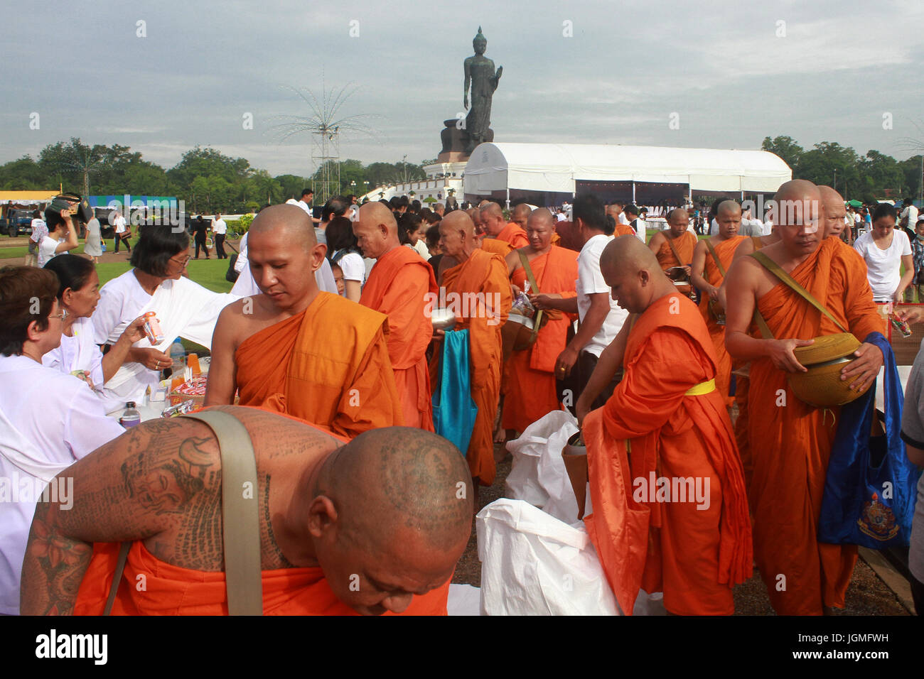
[[[792,178],[766,151],[620,144],[480,144],[465,168],[465,192],[522,189],[574,194],[576,181],[687,184],[691,191],[772,193]]]

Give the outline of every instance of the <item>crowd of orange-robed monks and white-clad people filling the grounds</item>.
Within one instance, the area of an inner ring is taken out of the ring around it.
[[[855,233],[833,188],[794,180],[774,199],[804,211],[764,221],[722,199],[670,210],[649,237],[636,205],[590,193],[553,210],[355,196],[317,210],[306,189],[255,215],[219,294],[188,278],[188,233],[158,225],[101,288],[95,250],[68,254],[72,199],[44,212],[39,268],[0,270],[0,472],[72,484],[67,511],[41,492],[0,503],[0,613],[240,611],[216,586],[240,561],[223,547],[228,449],[252,467],[262,612],[444,613],[495,444],[561,409],[588,449],[584,522],[624,611],[644,589],[671,613],[730,614],[755,564],[778,613],[844,607],[857,546],[817,528],[846,425],[788,379],[808,370],[800,347],[839,329],[856,338],[849,390],[888,367],[885,319],[918,320],[892,305],[924,287],[913,205],[879,205]],[[211,351],[205,409],[124,430],[107,413],[156,389],[175,337]],[[924,466],[920,370],[902,436]],[[706,479],[709,502],[638,498],[631,479],[656,476]],[[918,611],[922,533],[918,503]]]

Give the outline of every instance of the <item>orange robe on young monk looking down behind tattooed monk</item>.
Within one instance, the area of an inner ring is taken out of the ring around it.
[[[237,347],[240,406],[259,406],[348,438],[404,424],[388,358],[388,319],[328,292]]]

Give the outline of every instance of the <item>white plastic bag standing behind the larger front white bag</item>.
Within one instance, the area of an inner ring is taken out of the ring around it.
[[[526,428],[507,450],[513,467],[506,480],[506,494],[539,507],[546,514],[570,524],[577,519],[577,498],[565,470],[562,450],[578,431],[577,419],[567,410],[553,410]]]

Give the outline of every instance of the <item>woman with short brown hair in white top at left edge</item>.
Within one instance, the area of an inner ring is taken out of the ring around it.
[[[61,341],[65,312],[55,297],[57,285],[55,274],[43,269],[0,270],[0,478],[12,491],[0,502],[4,615],[19,612],[22,562],[37,505],[69,509],[72,503],[73,483],[55,476],[124,431],[105,417],[83,382],[42,365],[43,355]],[[39,558],[54,564],[55,554]]]

